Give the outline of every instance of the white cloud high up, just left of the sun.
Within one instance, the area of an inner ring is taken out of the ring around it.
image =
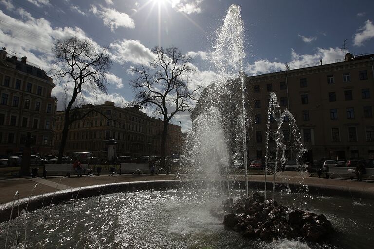
[[[128,14],[118,12],[115,9],[100,7],[101,10],[95,5],[91,5],[90,11],[103,19],[104,25],[110,27],[112,32],[118,27],[135,28],[134,20]]]

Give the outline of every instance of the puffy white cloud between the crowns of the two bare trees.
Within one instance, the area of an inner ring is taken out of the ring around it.
[[[131,62],[134,64],[148,65],[155,59],[151,50],[145,47],[140,41],[126,40],[111,43],[109,47],[112,50],[113,61],[124,64]]]

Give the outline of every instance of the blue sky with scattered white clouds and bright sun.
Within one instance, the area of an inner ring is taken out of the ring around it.
[[[284,70],[285,63],[292,69],[345,53],[374,53],[373,0],[0,0],[0,46],[47,72],[56,39],[75,35],[108,47],[108,94],[86,93],[84,102],[125,107],[134,97],[131,67],[149,65],[156,46],[175,46],[193,58],[191,88],[215,82],[212,46],[231,4],[241,7],[249,75]],[[63,92],[56,83],[59,110]],[[187,131],[189,113],[173,123]]]

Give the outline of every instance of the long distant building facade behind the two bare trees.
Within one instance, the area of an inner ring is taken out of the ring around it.
[[[85,116],[70,125],[65,153],[88,151],[107,159],[109,139],[117,141],[117,156],[141,157],[160,155],[163,122],[148,117],[134,107],[116,107],[114,102],[84,105],[78,112]],[[87,114],[88,113],[88,114]],[[86,115],[87,114],[87,115]],[[64,111],[57,111],[54,152],[58,152],[62,137]],[[181,148],[181,126],[169,124],[166,155],[178,154]]]

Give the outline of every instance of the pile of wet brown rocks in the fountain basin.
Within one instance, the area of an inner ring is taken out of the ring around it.
[[[222,203],[223,209],[212,210],[215,216],[224,216],[224,226],[243,233],[247,238],[299,238],[317,242],[334,229],[323,214],[278,205],[276,201],[254,193],[252,198],[242,196]]]

